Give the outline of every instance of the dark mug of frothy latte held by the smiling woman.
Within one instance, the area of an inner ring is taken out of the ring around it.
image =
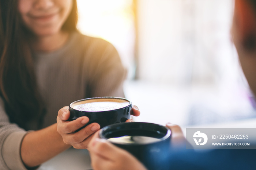
[[[101,128],[122,123],[131,118],[132,102],[121,97],[94,97],[74,101],[69,105],[69,121],[87,116],[89,122],[98,123]],[[84,126],[86,126],[84,125]]]

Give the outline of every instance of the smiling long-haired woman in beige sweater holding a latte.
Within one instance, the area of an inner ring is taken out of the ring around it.
[[[37,167],[71,145],[87,148],[99,124],[75,132],[89,119],[64,121],[64,106],[124,97],[116,49],[77,31],[76,0],[0,0],[0,8],[0,169]]]

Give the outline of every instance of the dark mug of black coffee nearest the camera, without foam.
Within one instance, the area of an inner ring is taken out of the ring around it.
[[[161,169],[170,152],[170,129],[154,123],[112,124],[101,129],[99,138],[127,150],[150,170]]]

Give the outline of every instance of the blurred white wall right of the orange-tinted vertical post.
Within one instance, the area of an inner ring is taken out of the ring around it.
[[[237,80],[233,0],[138,0],[139,79],[178,85]]]

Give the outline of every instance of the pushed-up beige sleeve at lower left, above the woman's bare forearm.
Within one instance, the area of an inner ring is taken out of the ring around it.
[[[27,132],[10,123],[0,98],[0,169],[26,170],[20,157],[20,144]]]

